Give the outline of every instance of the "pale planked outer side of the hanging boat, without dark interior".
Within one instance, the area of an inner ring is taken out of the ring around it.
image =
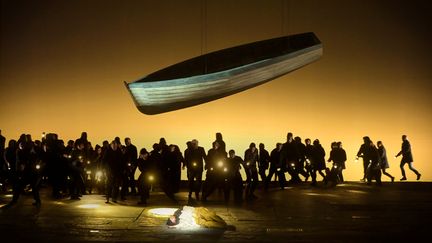
[[[285,55],[219,72],[125,85],[139,111],[153,115],[203,104],[256,87],[321,56],[322,45],[317,43]]]

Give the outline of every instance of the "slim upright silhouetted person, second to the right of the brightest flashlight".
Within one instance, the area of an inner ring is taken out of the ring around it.
[[[258,150],[255,143],[251,143],[249,148],[245,151],[243,167],[246,171],[246,195],[248,200],[256,199],[254,192],[258,184]]]

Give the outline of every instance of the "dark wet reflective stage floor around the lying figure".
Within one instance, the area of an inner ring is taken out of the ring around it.
[[[177,202],[156,191],[147,206],[137,196],[106,204],[102,195],[75,201],[51,199],[50,188],[41,194],[39,208],[28,194],[0,209],[1,242],[427,242],[432,225],[429,182],[259,188],[258,199],[242,205],[225,204],[218,191],[206,203],[188,202],[184,191]],[[10,200],[1,194],[0,206]],[[187,204],[207,207],[235,230],[168,228],[166,214]]]

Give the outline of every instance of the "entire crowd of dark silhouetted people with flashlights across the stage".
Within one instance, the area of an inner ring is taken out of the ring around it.
[[[363,159],[364,177],[362,181],[381,185],[382,174],[391,182],[395,177],[386,172],[389,163],[381,141],[375,145],[369,137],[363,137],[357,158]],[[342,142],[333,142],[326,160],[326,152],[318,139],[313,142],[287,134],[285,143],[277,143],[275,148],[266,150],[265,145],[250,143],[240,157],[236,151],[227,152],[221,133],[216,133],[212,148],[206,151],[196,139],[186,143],[181,152],[178,145],[167,144],[164,138],[154,143],[151,150],[137,147],[130,138],[119,137],[111,142],[93,147],[82,132],[76,140],[67,144],[55,133],[43,134],[41,140],[33,141],[31,135],[22,134],[17,140],[6,139],[0,130],[0,186],[3,191],[13,190],[9,205],[18,201],[19,196],[31,188],[34,205],[41,204],[39,188],[45,183],[52,188],[56,199],[70,197],[79,200],[82,195],[99,193],[106,196],[106,202],[116,203],[126,200],[128,195],[139,195],[139,204],[146,204],[150,192],[158,187],[172,200],[180,190],[181,170],[187,170],[188,197],[190,200],[207,201],[215,191],[222,191],[226,202],[233,194],[234,201],[257,198],[255,191],[259,185],[268,190],[272,179],[277,178],[278,186],[284,189],[288,183],[308,181],[317,186],[317,174],[324,185],[334,186],[344,182],[346,152]],[[402,148],[396,157],[402,155],[400,164],[402,178],[406,180],[404,165],[416,174],[413,167],[411,145],[406,135],[402,136]],[[326,161],[331,163],[327,166]],[[140,175],[135,180],[135,172]],[[241,170],[246,175],[242,178]],[[203,173],[205,181],[203,181]],[[286,175],[289,175],[289,178]],[[261,183],[259,184],[259,178]]]

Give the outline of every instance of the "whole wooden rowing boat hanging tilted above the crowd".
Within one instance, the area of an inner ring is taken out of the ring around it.
[[[314,33],[253,42],[198,56],[126,83],[137,108],[152,115],[258,86],[322,56]]]

